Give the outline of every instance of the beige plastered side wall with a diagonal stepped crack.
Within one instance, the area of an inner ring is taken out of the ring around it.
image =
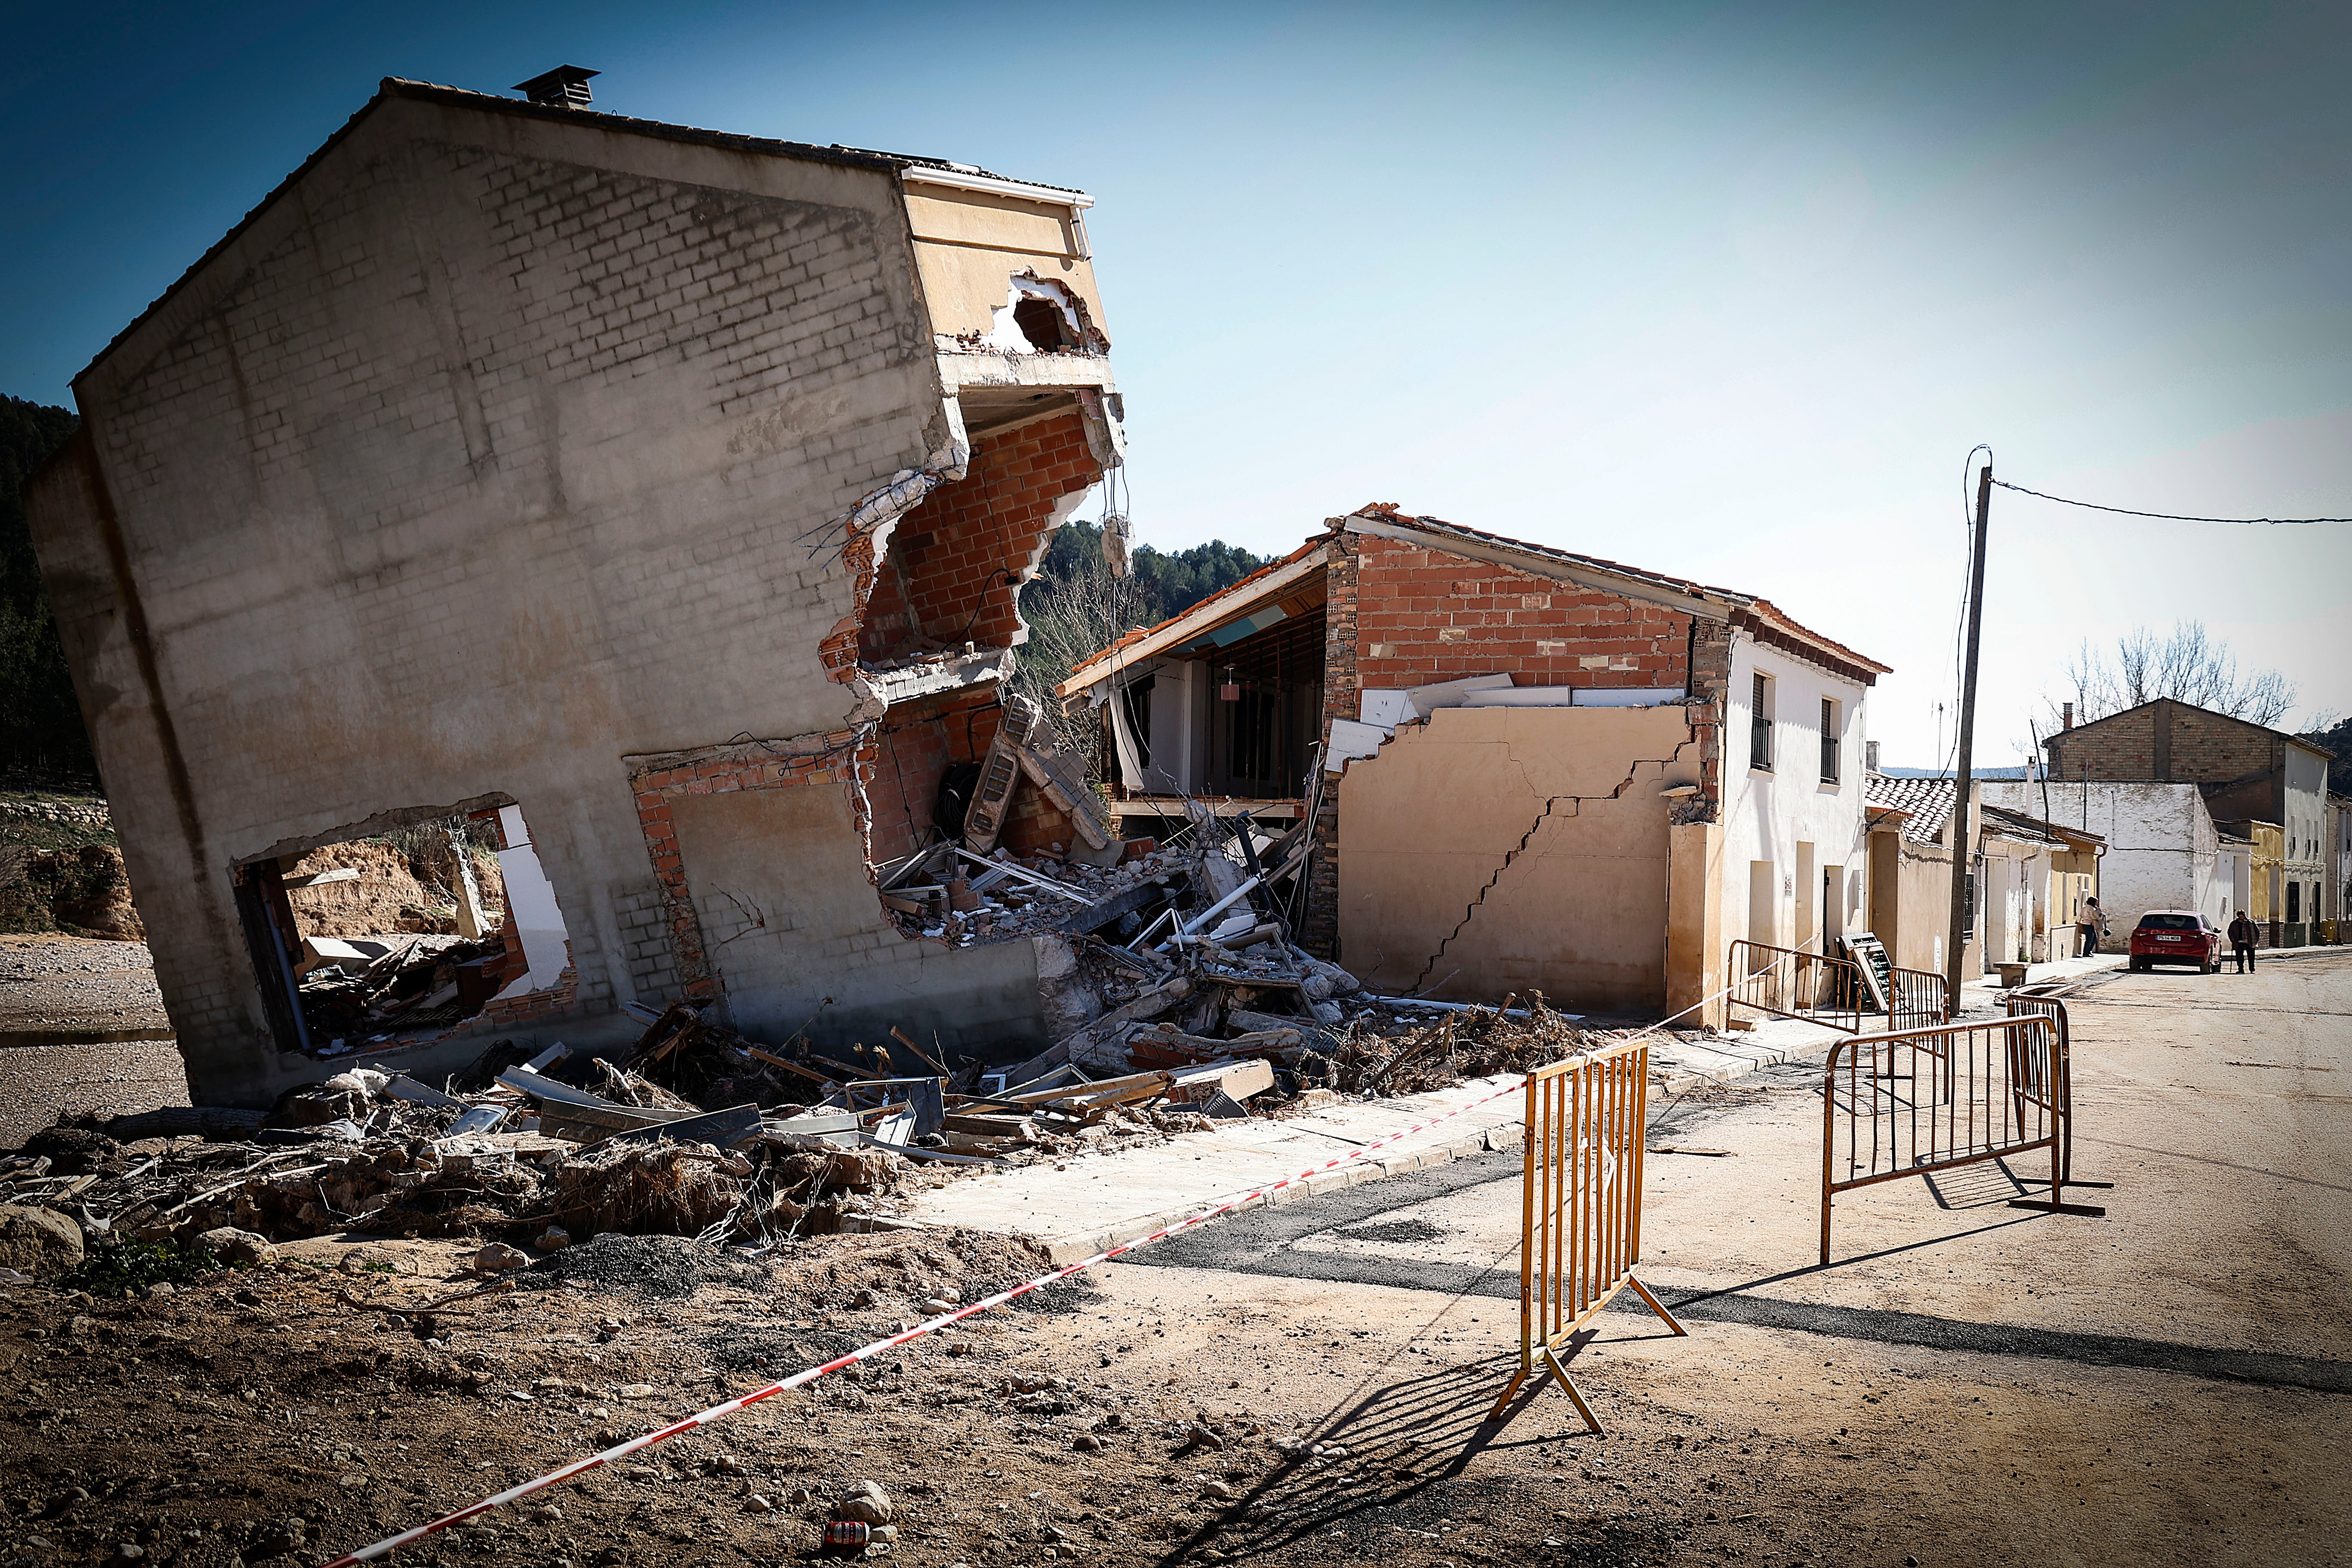
[[[1402,726],[1338,788],[1350,969],[1388,992],[1658,1006],[1661,790],[1696,780],[1682,708],[1442,708]]]

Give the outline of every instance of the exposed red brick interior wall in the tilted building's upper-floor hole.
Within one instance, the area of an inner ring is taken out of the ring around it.
[[[943,644],[1009,646],[1018,618],[1007,574],[1035,559],[1054,503],[1098,477],[1075,409],[981,440],[964,477],[924,496],[889,541],[920,632]]]

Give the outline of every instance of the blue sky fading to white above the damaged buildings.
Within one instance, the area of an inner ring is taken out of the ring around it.
[[[1952,691],[1962,458],[2352,515],[2352,9],[42,7],[7,21],[0,393],[68,378],[383,75],[1098,197],[1138,536],[1397,501],[1762,592]],[[2352,710],[2352,529],[1999,491],[1985,762],[2084,639],[2201,618]],[[1947,736],[1945,726],[1945,736]]]

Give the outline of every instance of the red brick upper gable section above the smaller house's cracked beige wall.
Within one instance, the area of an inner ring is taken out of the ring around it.
[[[1519,686],[1682,686],[1689,677],[1691,616],[1392,538],[1355,543],[1364,686],[1496,672]]]

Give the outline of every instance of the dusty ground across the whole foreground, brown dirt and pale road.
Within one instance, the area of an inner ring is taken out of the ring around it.
[[[1661,1143],[1731,1157],[1651,1161],[1646,1269],[1691,1333],[1599,1319],[1573,1373],[1606,1436],[1557,1389],[1484,1420],[1517,1347],[1494,1154],[1202,1227],[397,1561],[797,1561],[797,1493],[863,1479],[924,1568],[2352,1561],[2347,1016],[2345,959],[2119,976],[2074,1011],[2110,1215],[2011,1211],[1997,1166],[1896,1182],[1842,1199],[1830,1269],[1802,1070],[1661,1107]],[[0,1295],[0,1563],[318,1563],[1018,1269],[840,1237],[684,1300],[604,1269],[428,1321],[463,1251]]]

